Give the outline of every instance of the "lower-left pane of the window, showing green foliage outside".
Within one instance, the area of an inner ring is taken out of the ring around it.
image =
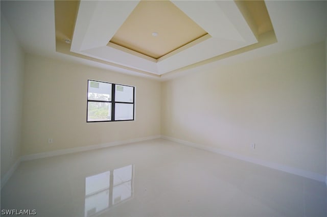
[[[111,103],[87,102],[87,121],[111,121]]]

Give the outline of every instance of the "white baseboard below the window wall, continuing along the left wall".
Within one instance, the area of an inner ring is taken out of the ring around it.
[[[136,138],[136,139],[130,139],[130,140],[103,143],[103,144],[99,144],[99,145],[76,147],[76,148],[62,149],[62,150],[58,150],[58,151],[49,151],[49,152],[42,152],[42,153],[37,153],[37,154],[24,155],[24,156],[19,157],[16,160],[15,164],[10,168],[10,170],[7,173],[5,173],[4,177],[1,179],[1,188],[7,183],[9,178],[12,176],[12,174],[18,168],[21,161],[57,156],[57,155],[62,155],[62,154],[70,154],[70,153],[76,153],[76,152],[81,152],[81,151],[89,151],[89,150],[100,149],[100,148],[107,148],[107,147],[111,147],[111,146],[118,146],[118,145],[124,145],[124,144],[129,144],[129,143],[154,140],[154,139],[159,139],[159,138],[161,138],[161,135],[152,135],[150,137],[142,137],[142,138]]]

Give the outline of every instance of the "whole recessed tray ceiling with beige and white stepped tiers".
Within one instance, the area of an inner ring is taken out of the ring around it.
[[[55,22],[57,52],[155,77],[276,42],[264,1],[55,1]]]

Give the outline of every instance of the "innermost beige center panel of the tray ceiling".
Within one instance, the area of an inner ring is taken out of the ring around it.
[[[158,59],[206,34],[170,1],[141,1],[110,42]]]

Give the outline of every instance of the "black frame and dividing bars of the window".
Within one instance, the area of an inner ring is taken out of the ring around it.
[[[99,82],[99,83],[111,84],[111,101],[88,99],[88,86],[89,86],[88,84],[89,84],[89,82]],[[115,100],[115,89],[116,89],[116,85],[133,88],[133,102],[116,101]],[[110,83],[110,82],[101,82],[100,80],[87,79],[87,94],[86,94],[86,99],[87,99],[87,102],[86,102],[86,122],[87,123],[115,122],[115,121],[134,121],[135,120],[135,87],[134,86],[121,85],[121,84],[115,84],[115,83]],[[88,102],[110,102],[111,103],[111,120],[88,121],[88,119],[87,119],[87,116],[88,116]],[[114,115],[115,115],[115,104],[116,103],[133,104],[133,119],[128,119],[128,120],[114,120],[114,118],[115,118],[114,117]]]

